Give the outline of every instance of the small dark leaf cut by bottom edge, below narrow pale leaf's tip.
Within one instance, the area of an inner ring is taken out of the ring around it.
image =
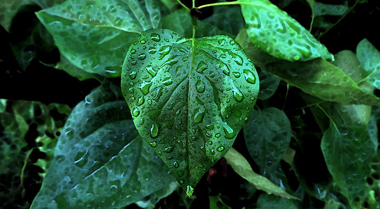
[[[256,208],[297,209],[298,207],[290,199],[263,193],[258,196]]]

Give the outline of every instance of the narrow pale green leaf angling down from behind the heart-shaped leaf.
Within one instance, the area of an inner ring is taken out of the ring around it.
[[[268,194],[282,196],[286,199],[298,199],[297,197],[286,193],[282,188],[268,180],[268,178],[255,173],[249,162],[247,162],[247,160],[245,160],[245,158],[234,148],[231,148],[228,153],[224,155],[224,158],[226,158],[227,163],[231,165],[236,173],[249,183],[255,185],[257,189],[261,189]]]

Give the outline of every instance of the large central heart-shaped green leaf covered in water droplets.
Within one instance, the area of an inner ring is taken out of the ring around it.
[[[189,192],[231,148],[258,86],[254,65],[235,40],[187,39],[166,29],[142,33],[122,72],[138,132]]]

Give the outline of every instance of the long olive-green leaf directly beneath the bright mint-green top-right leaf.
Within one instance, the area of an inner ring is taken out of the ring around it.
[[[301,88],[305,93],[322,100],[343,104],[380,105],[379,98],[364,91],[347,75],[349,71],[345,72],[328,61],[322,59],[298,63],[278,61],[251,44],[244,30],[240,31],[236,40],[255,65],[288,84]]]

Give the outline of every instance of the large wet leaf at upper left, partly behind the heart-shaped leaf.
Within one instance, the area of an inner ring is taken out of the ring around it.
[[[36,14],[73,65],[106,77],[120,75],[125,50],[161,20],[154,0],[68,0]]]

